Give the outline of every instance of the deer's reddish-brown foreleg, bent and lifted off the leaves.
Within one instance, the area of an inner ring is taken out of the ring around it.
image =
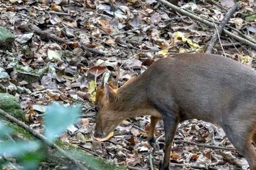
[[[160,118],[151,116],[150,117],[150,130],[148,131],[147,141],[156,150],[160,150],[158,143],[155,141],[154,132],[155,125],[160,120]]]

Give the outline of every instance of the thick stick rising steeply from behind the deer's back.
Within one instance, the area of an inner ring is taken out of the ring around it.
[[[216,44],[218,40],[218,35],[221,35],[225,25],[228,23],[231,16],[234,14],[238,7],[238,2],[229,10],[229,12],[224,16],[222,19],[220,25],[218,25],[218,29],[216,29],[214,35],[212,36],[212,39],[209,42],[209,45],[207,47],[206,53],[212,53],[213,46]],[[214,24],[214,23],[213,23]],[[223,47],[222,47],[223,48]],[[224,53],[225,54],[225,53]]]

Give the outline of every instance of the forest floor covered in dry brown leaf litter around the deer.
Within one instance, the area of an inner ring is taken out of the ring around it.
[[[156,0],[53,2],[0,0],[0,26],[15,35],[14,44],[0,49],[0,65],[11,83],[26,89],[11,93],[19,97],[28,124],[43,131],[42,117],[53,101],[82,104],[79,123],[61,135],[62,141],[129,169],[158,169],[163,159],[162,122],[155,131],[159,151],[152,151],[146,141],[148,116],[123,121],[108,141],[93,138],[95,88],[106,70],[114,79],[119,67],[118,83],[122,86],[159,58],[204,52],[214,29]],[[256,2],[239,3],[226,29],[240,35],[236,29],[256,41]],[[231,0],[177,4],[210,22],[221,22],[233,5]],[[256,50],[224,34],[213,53],[255,67]],[[173,169],[189,165],[195,169],[248,167],[237,151],[218,147],[233,147],[221,128],[199,120],[185,121],[179,125],[172,147]]]

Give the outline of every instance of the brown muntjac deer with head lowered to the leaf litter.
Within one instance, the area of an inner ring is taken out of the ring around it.
[[[104,86],[94,137],[104,138],[129,117],[162,118],[168,169],[179,122],[197,118],[220,125],[237,151],[256,170],[256,72],[213,54],[177,54],[158,59],[121,88]],[[155,123],[152,125],[154,126]]]

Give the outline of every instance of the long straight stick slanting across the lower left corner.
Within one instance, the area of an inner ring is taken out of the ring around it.
[[[38,133],[37,131],[35,131],[34,129],[30,128],[30,126],[24,124],[24,122],[19,121],[18,119],[16,119],[15,117],[11,116],[9,113],[3,111],[2,109],[0,109],[0,115],[2,115],[3,117],[7,118],[7,120],[9,120],[11,122],[14,122],[15,124],[17,124],[20,127],[26,129],[27,131],[29,131],[36,138],[42,140],[48,146],[50,146],[50,147],[54,148],[55,150],[57,150],[61,155],[65,156],[65,158],[70,160],[73,164],[77,165],[77,167],[79,167],[80,169],[88,170],[86,167],[84,167],[84,165],[82,165],[77,160],[75,160],[71,156],[69,156],[62,148],[57,146],[54,142],[49,141],[49,139],[44,137],[44,135],[42,135],[42,134]]]

